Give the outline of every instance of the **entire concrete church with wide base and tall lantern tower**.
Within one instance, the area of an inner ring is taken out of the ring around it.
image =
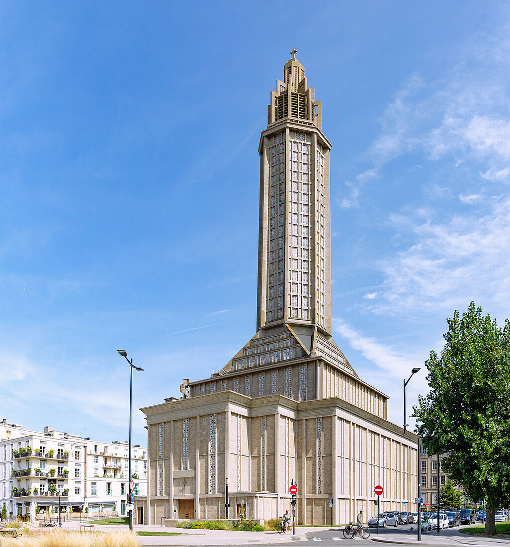
[[[331,336],[331,143],[295,53],[259,145],[257,332],[184,398],[142,409],[145,523],[224,519],[227,480],[231,519],[241,503],[261,520],[290,510],[291,480],[302,524],[349,522],[360,508],[372,516],[379,484],[381,510],[415,507],[417,438],[386,420],[388,397]]]

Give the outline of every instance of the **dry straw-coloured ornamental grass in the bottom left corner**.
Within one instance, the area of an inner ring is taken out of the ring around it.
[[[140,547],[133,532],[22,532],[21,538],[0,537],[2,547]]]

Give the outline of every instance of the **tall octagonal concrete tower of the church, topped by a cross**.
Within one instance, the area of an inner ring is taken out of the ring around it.
[[[295,53],[271,92],[259,146],[257,330],[288,323],[331,336],[331,144]]]

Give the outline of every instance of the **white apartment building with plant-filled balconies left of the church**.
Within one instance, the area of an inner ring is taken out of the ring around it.
[[[104,443],[45,427],[44,432],[0,422],[0,510],[36,515],[61,510],[126,515],[129,445]],[[146,494],[147,451],[132,446],[135,496]]]

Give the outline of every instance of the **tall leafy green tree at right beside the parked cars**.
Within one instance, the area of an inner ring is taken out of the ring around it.
[[[427,451],[468,498],[486,500],[485,534],[510,504],[510,321],[497,327],[471,302],[448,319],[445,345],[425,362],[430,392],[414,407]]]

